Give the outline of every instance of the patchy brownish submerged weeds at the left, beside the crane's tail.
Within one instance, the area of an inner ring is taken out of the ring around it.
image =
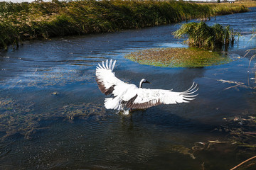
[[[54,94],[53,97],[55,97]],[[105,108],[97,103],[70,104],[55,111],[38,112],[33,102],[23,103],[12,98],[0,98],[0,140],[11,135],[20,134],[25,138],[31,137],[36,131],[47,129],[41,122],[45,120],[103,118]]]

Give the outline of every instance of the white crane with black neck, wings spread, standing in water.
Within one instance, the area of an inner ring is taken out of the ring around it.
[[[143,83],[149,83],[146,79],[142,79],[139,83],[139,88],[134,84],[127,84],[115,77],[113,69],[116,60],[112,62],[102,61],[96,69],[96,81],[102,94],[113,97],[105,98],[105,108],[123,111],[124,115],[128,115],[131,109],[144,109],[160,104],[176,104],[188,103],[193,100],[198,91],[194,83],[186,91],[175,92],[172,90],[162,89],[144,89]]]

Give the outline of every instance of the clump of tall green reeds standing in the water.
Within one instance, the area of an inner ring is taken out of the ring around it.
[[[216,48],[221,49],[223,45],[234,44],[235,33],[230,26],[221,26],[215,24],[213,26],[207,26],[206,23],[185,23],[180,29],[174,32],[177,38],[182,38],[184,35],[188,35],[186,41],[191,47],[203,48],[206,50],[214,50]]]

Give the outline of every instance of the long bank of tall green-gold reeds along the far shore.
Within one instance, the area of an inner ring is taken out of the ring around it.
[[[0,48],[22,40],[158,26],[247,10],[233,4],[180,1],[0,2]]]

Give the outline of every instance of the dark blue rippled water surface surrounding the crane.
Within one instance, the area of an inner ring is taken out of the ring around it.
[[[192,149],[226,140],[227,133],[215,130],[225,125],[223,118],[256,111],[255,61],[248,68],[255,52],[243,58],[255,47],[250,32],[256,8],[208,21],[213,23],[242,32],[226,52],[233,62],[174,69],[124,58],[144,48],[184,47],[171,35],[180,24],[35,40],[1,52],[1,169],[230,169],[250,157],[223,145]],[[117,60],[116,76],[129,83],[146,78],[146,88],[184,91],[195,81],[199,95],[191,103],[116,114],[104,108],[95,82],[95,66],[106,59]]]

